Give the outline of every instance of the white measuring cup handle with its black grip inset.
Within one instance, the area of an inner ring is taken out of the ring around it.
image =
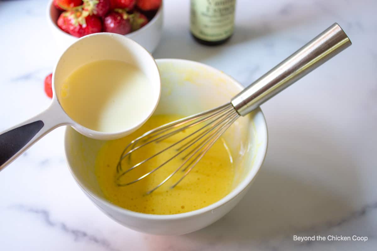
[[[62,123],[62,116],[57,116],[62,109],[55,103],[52,102],[48,109],[37,116],[0,132],[0,171],[45,134],[66,124]]]

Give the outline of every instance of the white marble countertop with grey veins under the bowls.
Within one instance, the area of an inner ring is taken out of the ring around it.
[[[0,173],[1,250],[376,250],[377,2],[237,0],[224,46],[189,34],[189,1],[166,0],[155,58],[212,65],[247,85],[338,22],[353,45],[262,106],[269,147],[250,192],[215,224],[150,236],[101,213],[63,156],[63,128]],[[57,60],[46,0],[0,1],[0,131],[48,106]],[[293,236],[368,241],[294,241]]]

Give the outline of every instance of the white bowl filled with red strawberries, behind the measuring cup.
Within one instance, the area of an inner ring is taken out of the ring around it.
[[[152,53],[161,39],[162,0],[51,0],[47,19],[59,50],[79,37],[111,32]]]

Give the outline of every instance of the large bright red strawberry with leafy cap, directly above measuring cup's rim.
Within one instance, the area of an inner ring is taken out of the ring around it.
[[[99,17],[85,16],[81,11],[63,12],[57,23],[60,29],[78,38],[102,31],[102,22]]]

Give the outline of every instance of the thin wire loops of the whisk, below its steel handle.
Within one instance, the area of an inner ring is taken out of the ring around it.
[[[190,167],[194,161],[198,163],[198,161],[204,156],[204,154],[208,151],[208,147],[205,147],[205,145],[210,142],[210,145],[213,145],[215,141],[221,136],[221,134],[228,128],[231,123],[233,123],[233,120],[238,118],[239,114],[234,110],[233,105],[231,103],[219,106],[217,108],[205,111],[203,113],[194,114],[192,116],[186,117],[185,119],[179,119],[174,122],[159,126],[153,130],[150,130],[140,137],[136,138],[135,140],[131,141],[126,148],[124,148],[120,160],[118,161],[118,164],[116,166],[117,170],[117,176],[116,176],[116,184],[118,186],[128,186],[130,184],[133,184],[139,180],[142,180],[152,174],[153,172],[157,171],[161,167],[163,167],[165,164],[172,161],[174,158],[178,157],[185,151],[187,151],[189,148],[190,151],[184,155],[184,157],[181,158],[183,160],[183,163],[169,176],[167,176],[161,183],[158,184],[155,188],[147,192],[147,194],[152,193],[154,190],[156,190],[158,187],[162,186],[162,184],[166,183],[167,180],[169,180],[175,173],[177,173],[182,167],[184,167],[190,160],[190,163],[182,170],[186,170],[188,167]],[[205,123],[206,122],[206,123]],[[129,167],[127,170],[122,169],[122,161],[128,156],[129,160],[131,158],[132,152],[137,151],[138,149],[141,149],[145,147],[146,145],[155,142],[158,143],[162,140],[166,140],[167,138],[178,134],[179,132],[184,131],[185,129],[192,128],[193,126],[198,126],[199,124],[204,123],[204,125],[200,126],[199,129],[195,129],[195,131],[189,133],[189,135],[183,137],[182,139],[170,144],[166,148],[162,149],[161,151],[158,151],[155,154],[152,154],[152,156],[145,158],[144,160],[140,161],[137,164],[134,164],[133,166]],[[225,129],[224,129],[225,128]],[[218,135],[218,136],[216,136]],[[137,143],[142,142],[141,145],[136,146]],[[135,169],[138,166],[141,166],[142,164],[146,164],[147,161],[151,160],[152,158],[155,158],[156,156],[162,154],[163,152],[167,151],[168,149],[173,148],[174,146],[177,146],[181,144],[176,151],[177,153],[174,154],[172,157],[168,158],[166,161],[164,161],[159,166],[155,167],[154,169],[150,170],[149,172],[145,173],[144,175],[138,177],[136,180],[122,183],[121,178],[131,170]],[[201,149],[203,149],[201,151]],[[199,152],[199,154],[198,154]],[[198,154],[194,159],[192,159],[196,154]],[[192,168],[190,168],[192,170]],[[186,174],[187,175],[187,174]],[[179,181],[181,181],[180,179]],[[174,184],[174,187],[178,183]]]

